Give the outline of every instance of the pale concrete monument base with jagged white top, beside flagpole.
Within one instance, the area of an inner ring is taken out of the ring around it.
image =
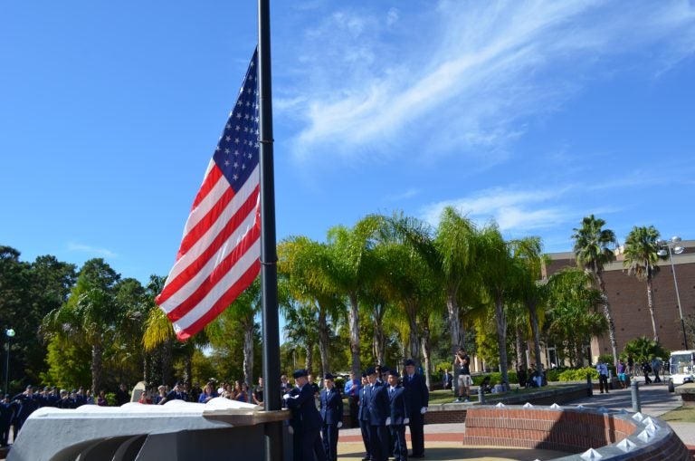
[[[283,424],[288,418],[287,410],[267,412],[222,398],[207,404],[173,400],[161,406],[39,408],[24,423],[7,460],[262,459],[266,423],[281,425],[283,453],[290,459],[291,436]]]

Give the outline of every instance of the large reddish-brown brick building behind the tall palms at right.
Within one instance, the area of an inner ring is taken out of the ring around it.
[[[695,240],[682,241],[681,255],[672,255],[676,272],[678,293],[681,297],[683,318],[695,319]],[[552,253],[548,255],[551,263],[547,274],[554,274],[565,267],[576,267],[573,253]],[[652,319],[647,304],[647,284],[634,275],[628,275],[623,267],[622,248],[616,251],[617,260],[604,268],[605,289],[615,323],[615,341],[618,353],[623,351],[625,342],[639,336],[652,338]],[[666,258],[660,261],[660,271],[653,278],[653,301],[656,326],[662,346],[670,351],[684,349],[681,315],[676,300],[671,262]],[[695,349],[692,335],[688,336],[688,348]],[[552,345],[548,345],[552,346]],[[552,347],[549,348],[552,361]],[[611,344],[606,333],[604,337],[594,338],[591,343],[592,362],[599,354],[611,354]]]

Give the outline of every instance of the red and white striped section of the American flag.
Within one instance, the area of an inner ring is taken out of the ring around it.
[[[186,221],[184,236],[157,304],[184,341],[212,322],[261,269],[260,172],[234,194],[214,163]]]

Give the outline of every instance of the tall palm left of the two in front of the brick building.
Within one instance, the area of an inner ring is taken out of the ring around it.
[[[594,215],[586,216],[582,220],[582,226],[574,229],[575,234],[572,238],[575,240],[576,263],[594,275],[595,284],[601,291],[605,320],[608,322],[608,336],[613,350],[613,363],[617,366],[618,345],[615,341],[615,323],[604,282],[604,265],[615,260],[615,254],[610,246],[616,245],[616,240],[614,232],[604,229],[604,226],[605,220]]]

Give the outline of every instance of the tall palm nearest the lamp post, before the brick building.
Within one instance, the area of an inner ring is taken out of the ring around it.
[[[652,279],[659,272],[659,266],[656,265],[659,260],[659,245],[657,243],[659,237],[659,231],[654,226],[634,226],[625,239],[625,260],[623,262],[623,266],[627,267],[627,274],[634,274],[638,280],[644,280],[647,283],[647,305],[652,316],[652,331],[656,342],[659,342],[659,331],[656,328]]]

